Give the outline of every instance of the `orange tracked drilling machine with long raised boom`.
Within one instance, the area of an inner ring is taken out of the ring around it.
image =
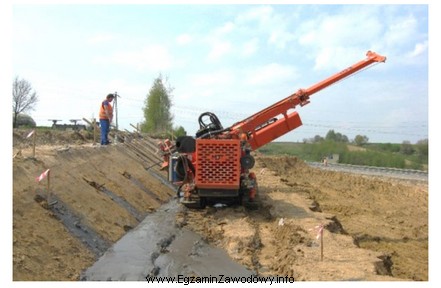
[[[195,137],[182,136],[175,143],[160,144],[164,156],[162,169],[177,188],[181,203],[190,208],[205,207],[216,201],[233,201],[253,206],[257,201],[257,179],[251,168],[251,151],[302,125],[297,105],[309,103],[312,94],[368,67],[385,62],[386,57],[368,51],[366,59],[224,128],[210,112],[199,116]]]

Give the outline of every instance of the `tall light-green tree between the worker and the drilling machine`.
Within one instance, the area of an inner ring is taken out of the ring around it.
[[[153,81],[153,86],[145,100],[143,109],[145,122],[141,124],[141,131],[162,134],[167,131],[171,132],[173,126],[173,116],[170,112],[172,91],[173,88],[165,86],[162,75]]]

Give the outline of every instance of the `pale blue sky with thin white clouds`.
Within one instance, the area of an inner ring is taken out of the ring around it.
[[[229,126],[365,58],[387,57],[298,107],[303,126],[279,140],[334,129],[353,139],[428,138],[428,5],[31,5],[12,10],[12,77],[39,95],[30,115],[98,116],[117,91],[118,124],[143,121],[162,74],[174,124],[189,135],[205,111]]]

